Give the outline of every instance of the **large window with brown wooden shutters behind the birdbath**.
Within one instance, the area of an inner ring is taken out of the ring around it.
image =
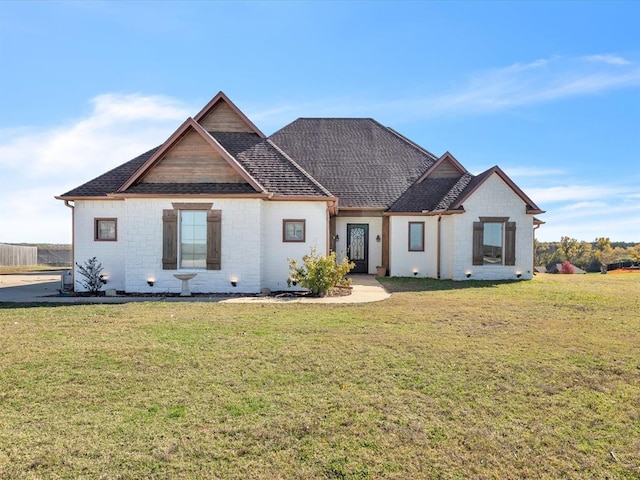
[[[174,203],[162,214],[162,269],[222,268],[222,211],[211,203]]]

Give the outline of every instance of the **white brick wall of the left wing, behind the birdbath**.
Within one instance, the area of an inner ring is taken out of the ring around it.
[[[212,202],[222,211],[222,269],[162,269],[162,211],[172,201]],[[95,242],[96,217],[118,218],[118,241]],[[305,219],[306,241],[284,243],[283,219]],[[110,276],[107,288],[136,293],[179,293],[175,273],[194,272],[194,293],[259,293],[263,287],[287,289],[288,258],[301,258],[312,246],[326,255],[328,217],[326,202],[264,201],[261,199],[126,199],[77,201],[75,249],[79,263],[96,256]],[[78,278],[78,277],[76,277]],[[149,286],[147,279],[153,278]],[[238,280],[237,287],[231,279]],[[76,290],[82,288],[76,282]]]

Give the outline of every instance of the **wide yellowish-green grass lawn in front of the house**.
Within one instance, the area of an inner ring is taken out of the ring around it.
[[[640,275],[0,305],[0,478],[640,478]]]

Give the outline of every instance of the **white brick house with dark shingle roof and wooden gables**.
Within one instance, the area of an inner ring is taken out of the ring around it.
[[[56,197],[74,261],[108,288],[287,288],[288,258],[336,251],[354,272],[531,278],[543,213],[497,166],[472,175],[369,118],[300,118],[266,137],[218,93],[162,145]],[[81,289],[75,283],[76,289]]]

